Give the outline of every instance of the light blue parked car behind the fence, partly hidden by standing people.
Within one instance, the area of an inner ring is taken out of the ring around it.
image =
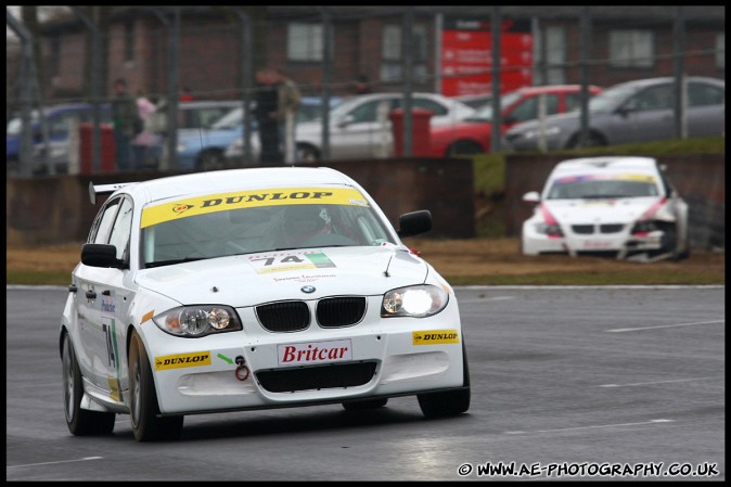
[[[331,97],[330,105],[336,106],[343,99]],[[320,97],[303,97],[297,123],[308,121],[321,115]],[[257,130],[252,116],[252,130]],[[178,131],[178,167],[181,169],[213,170],[227,167],[226,149],[244,131],[244,110],[239,105],[218,119],[209,128],[181,129]],[[256,139],[256,138],[254,138]],[[258,141],[257,141],[258,142]],[[257,144],[258,148],[258,144]],[[243,158],[243,157],[242,157]],[[231,158],[230,164],[241,166],[242,158]]]

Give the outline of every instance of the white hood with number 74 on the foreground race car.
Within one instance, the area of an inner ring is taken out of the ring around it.
[[[427,273],[428,265],[406,247],[323,247],[145,269],[138,273],[137,283],[184,305],[244,307],[282,299],[379,295],[423,283]],[[315,291],[306,294],[306,285]]]

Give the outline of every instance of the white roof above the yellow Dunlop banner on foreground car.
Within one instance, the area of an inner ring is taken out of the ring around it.
[[[226,193],[262,188],[358,184],[348,176],[328,167],[257,167],[194,172],[128,183],[121,192],[137,203],[185,197],[195,194]]]

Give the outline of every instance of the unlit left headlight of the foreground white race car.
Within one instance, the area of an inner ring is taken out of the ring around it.
[[[229,306],[181,306],[157,315],[152,321],[165,333],[194,338],[243,330],[236,312]]]

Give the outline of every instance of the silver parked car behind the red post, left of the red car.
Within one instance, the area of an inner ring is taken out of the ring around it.
[[[333,159],[386,157],[393,153],[388,114],[401,107],[401,93],[369,93],[352,97],[330,113],[330,156]],[[432,125],[453,124],[474,113],[474,108],[434,93],[413,93],[414,108],[433,112]],[[298,124],[297,161],[319,161],[322,154],[322,121]],[[228,150],[227,157],[241,157],[242,140]],[[254,144],[252,144],[254,145]]]

